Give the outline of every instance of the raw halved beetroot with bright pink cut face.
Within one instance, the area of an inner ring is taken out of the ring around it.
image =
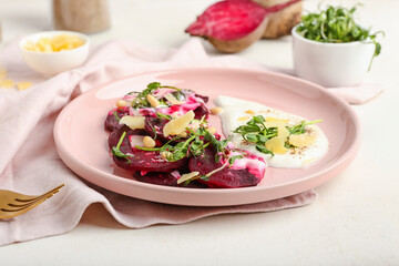
[[[267,14],[300,0],[270,8],[252,0],[225,0],[208,7],[185,31],[207,39],[222,52],[238,52],[259,40],[267,27]]]

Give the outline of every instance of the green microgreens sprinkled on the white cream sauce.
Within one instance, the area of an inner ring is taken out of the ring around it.
[[[290,135],[299,135],[306,132],[307,125],[316,124],[320,122],[323,122],[323,120],[301,121],[300,123],[294,126],[286,126],[286,129],[289,131]],[[266,127],[264,123],[265,123],[264,116],[256,115],[253,116],[253,119],[249,122],[247,122],[245,125],[238,126],[233,132],[241,134],[244,141],[254,144],[255,149],[258,152],[270,154],[272,156],[274,156],[273,151],[266,149],[265,143],[272,137],[277,136],[278,129],[275,126]],[[293,145],[288,143],[288,137],[285,143],[285,146],[293,147]]]

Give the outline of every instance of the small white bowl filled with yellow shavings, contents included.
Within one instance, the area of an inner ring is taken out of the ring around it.
[[[43,31],[24,37],[19,42],[23,60],[34,71],[52,76],[84,63],[90,41],[73,31]]]

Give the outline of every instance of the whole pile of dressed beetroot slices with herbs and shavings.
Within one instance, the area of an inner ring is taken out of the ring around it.
[[[207,122],[208,98],[152,82],[117,100],[105,119],[117,167],[139,182],[187,188],[257,185],[265,161],[237,150]]]

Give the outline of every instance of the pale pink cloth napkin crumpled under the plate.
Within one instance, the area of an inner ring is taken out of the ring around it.
[[[90,204],[102,203],[121,224],[142,228],[181,224],[224,213],[269,212],[304,206],[315,201],[307,191],[286,198],[226,207],[186,207],[132,198],[86,184],[60,160],[52,136],[57,115],[73,98],[105,82],[154,70],[176,68],[265,69],[237,57],[209,58],[192,39],[176,50],[154,50],[132,41],[105,43],[92,51],[80,69],[45,80],[23,62],[17,42],[0,53],[0,62],[14,81],[31,81],[25,91],[0,88],[0,188],[40,194],[66,185],[50,201],[24,215],[0,221],[0,245],[63,234],[80,221]]]

